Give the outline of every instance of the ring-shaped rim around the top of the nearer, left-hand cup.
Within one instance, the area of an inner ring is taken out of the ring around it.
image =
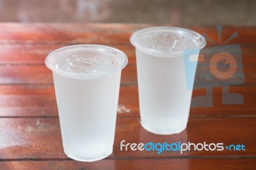
[[[124,59],[124,61],[116,68],[113,68],[111,70],[108,70],[106,72],[99,72],[99,73],[77,73],[77,72],[68,72],[65,70],[61,70],[60,68],[56,68],[54,65],[52,65],[54,59],[56,59],[58,56],[58,54],[60,54],[60,52],[68,52],[68,50],[74,50],[76,48],[87,48],[87,49],[107,49],[107,50],[113,50],[114,52],[116,52],[117,54],[119,54],[120,56],[122,56],[122,59]],[[122,70],[128,63],[128,59],[127,56],[124,52],[122,52],[122,50],[118,50],[114,47],[109,47],[106,45],[95,45],[95,44],[80,44],[80,45],[68,45],[66,47],[61,47],[59,49],[53,50],[52,52],[50,52],[47,57],[45,58],[45,65],[52,70],[52,72],[56,72],[59,75],[62,75],[64,77],[68,77],[68,78],[72,78],[72,79],[99,79],[102,77],[108,77],[109,75],[112,75],[115,72],[118,72],[119,70]]]

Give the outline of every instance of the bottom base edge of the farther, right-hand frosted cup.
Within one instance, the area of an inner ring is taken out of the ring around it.
[[[179,127],[171,127],[171,128],[163,128],[163,127],[152,127],[152,125],[148,125],[141,121],[141,126],[145,128],[148,132],[158,135],[172,135],[172,134],[179,134],[187,127],[187,122],[183,125],[179,125]]]

